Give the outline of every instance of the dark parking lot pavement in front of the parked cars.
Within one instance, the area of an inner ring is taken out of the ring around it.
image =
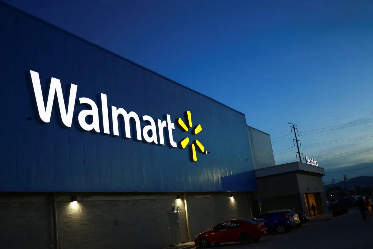
[[[373,218],[363,221],[357,208],[333,220],[309,222],[286,234],[271,234],[249,245],[220,245],[222,249],[360,249],[372,248]]]

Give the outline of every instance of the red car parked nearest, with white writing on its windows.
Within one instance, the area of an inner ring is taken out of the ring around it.
[[[257,242],[267,233],[263,222],[255,222],[249,219],[236,219],[224,221],[214,226],[211,230],[195,236],[194,243],[202,248],[220,243],[241,242],[248,244]]]

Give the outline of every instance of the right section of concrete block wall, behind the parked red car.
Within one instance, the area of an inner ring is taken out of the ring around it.
[[[188,193],[186,203],[191,240],[194,240],[197,234],[211,229],[219,222],[250,218],[246,192]]]

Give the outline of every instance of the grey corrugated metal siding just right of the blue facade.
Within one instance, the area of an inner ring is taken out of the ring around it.
[[[275,165],[271,137],[254,128],[247,127],[253,156],[254,169],[261,169]]]

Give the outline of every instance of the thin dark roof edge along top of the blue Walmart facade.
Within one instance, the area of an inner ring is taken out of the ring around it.
[[[223,103],[221,103],[221,102],[219,102],[219,101],[217,101],[217,100],[215,100],[215,99],[212,99],[212,98],[209,97],[209,96],[206,96],[206,95],[204,95],[204,94],[202,94],[202,93],[200,93],[200,92],[198,92],[198,91],[195,91],[195,90],[193,90],[193,89],[191,89],[191,88],[189,88],[189,87],[186,87],[185,85],[182,85],[182,84],[180,84],[180,83],[177,83],[176,81],[171,80],[170,78],[167,78],[167,77],[165,77],[165,76],[163,76],[163,75],[161,75],[161,74],[158,74],[157,72],[154,72],[154,71],[152,71],[152,70],[150,70],[150,69],[148,69],[148,68],[145,68],[144,66],[141,66],[141,65],[139,65],[138,63],[133,62],[132,60],[126,59],[126,58],[123,57],[123,56],[120,56],[120,55],[118,55],[118,54],[116,54],[116,53],[114,53],[114,52],[111,52],[110,50],[104,49],[103,47],[100,47],[100,46],[98,46],[97,44],[94,44],[94,43],[92,43],[92,42],[90,42],[90,41],[88,41],[88,40],[85,40],[85,39],[82,38],[82,37],[79,37],[78,35],[75,35],[75,34],[72,34],[72,33],[69,32],[69,31],[66,31],[65,29],[62,29],[62,28],[60,28],[60,27],[58,27],[58,26],[56,26],[56,25],[53,25],[53,24],[51,24],[51,23],[49,23],[49,22],[47,22],[47,21],[44,21],[43,19],[40,19],[40,18],[38,18],[38,17],[36,17],[36,16],[34,16],[34,15],[31,15],[30,13],[27,13],[27,12],[21,10],[21,9],[18,9],[18,8],[16,8],[15,6],[12,6],[12,5],[8,4],[8,3],[5,3],[5,2],[3,2],[3,1],[1,1],[1,0],[0,0],[0,4],[3,4],[4,6],[9,7],[10,9],[16,10],[16,11],[18,11],[19,13],[22,13],[23,15],[26,15],[26,16],[28,16],[28,17],[30,17],[30,18],[33,18],[33,19],[35,19],[35,20],[37,20],[37,21],[43,23],[43,24],[46,24],[46,25],[48,25],[48,26],[50,26],[50,27],[52,27],[52,28],[55,28],[55,29],[57,29],[57,30],[59,30],[59,31],[62,31],[62,32],[68,34],[68,35],[71,35],[72,37],[75,37],[75,38],[77,38],[77,39],[79,39],[79,40],[81,40],[81,41],[84,41],[85,43],[88,43],[88,44],[90,44],[91,46],[97,47],[98,49],[101,49],[101,50],[103,50],[103,51],[105,51],[105,52],[107,52],[107,53],[110,53],[110,54],[112,54],[112,55],[114,55],[114,56],[117,56],[117,57],[119,57],[120,59],[126,60],[126,61],[128,61],[128,62],[130,62],[130,63],[132,63],[132,64],[134,64],[134,65],[136,65],[136,66],[139,66],[139,67],[142,68],[142,69],[145,69],[146,71],[149,71],[149,72],[151,72],[151,73],[153,73],[153,74],[156,74],[156,75],[158,75],[158,76],[160,76],[160,77],[162,77],[162,78],[164,78],[164,79],[166,79],[166,80],[168,80],[168,81],[170,81],[170,82],[172,82],[172,83],[174,83],[174,84],[177,84],[177,85],[179,85],[179,86],[181,86],[181,87],[184,87],[184,88],[186,88],[186,89],[188,89],[188,90],[190,90],[190,91],[193,91],[194,93],[197,93],[197,94],[199,94],[199,95],[201,95],[201,96],[203,96],[203,97],[206,97],[207,99],[213,100],[214,102],[216,102],[216,103],[218,103],[218,104],[220,104],[220,105],[222,105],[222,106],[225,106],[226,108],[229,108],[229,109],[231,109],[232,111],[238,112],[238,113],[240,113],[240,114],[242,114],[242,115],[245,116],[244,113],[239,112],[239,111],[237,111],[236,109],[233,109],[233,108],[231,108],[231,107],[229,107],[229,106],[227,106],[227,105],[224,105]]]

